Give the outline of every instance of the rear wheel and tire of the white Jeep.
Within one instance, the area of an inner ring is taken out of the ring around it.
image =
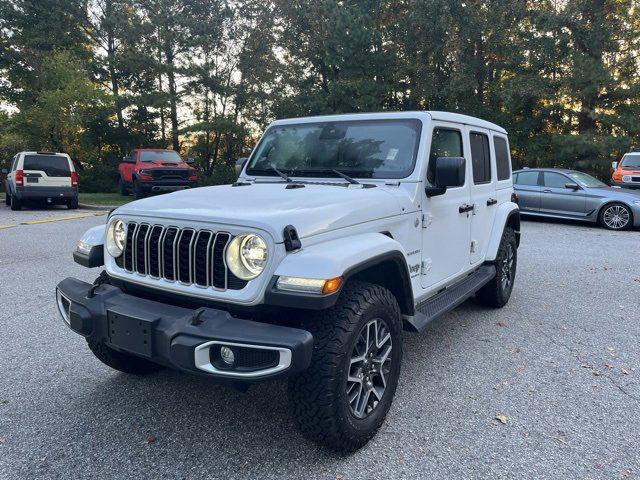
[[[510,227],[504,229],[494,263],[496,276],[476,292],[476,299],[488,307],[502,308],[511,297],[518,266],[518,243]]]

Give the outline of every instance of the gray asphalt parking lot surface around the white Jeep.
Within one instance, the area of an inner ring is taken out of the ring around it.
[[[386,424],[336,456],[297,433],[284,383],[96,360],[54,305],[99,273],[71,259],[95,215],[0,207],[0,478],[640,478],[638,231],[524,222],[511,302],[407,334]]]

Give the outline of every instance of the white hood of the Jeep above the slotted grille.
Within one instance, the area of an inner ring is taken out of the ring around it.
[[[289,184],[291,185],[291,184]],[[222,185],[182,190],[145,198],[117,209],[133,217],[179,219],[198,223],[254,227],[281,242],[282,231],[293,225],[301,238],[409,211],[409,195],[379,185],[282,183]]]

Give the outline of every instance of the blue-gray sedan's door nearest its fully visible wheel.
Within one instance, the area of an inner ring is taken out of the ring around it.
[[[542,172],[542,195],[540,212],[570,217],[583,217],[586,208],[584,190],[567,188],[566,184],[576,184],[575,180],[558,172]]]

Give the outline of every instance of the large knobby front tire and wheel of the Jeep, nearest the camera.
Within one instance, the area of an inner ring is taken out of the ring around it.
[[[333,450],[357,450],[382,425],[398,385],[398,303],[383,287],[351,282],[334,307],[305,327],[314,338],[311,365],[288,388],[298,428]]]

